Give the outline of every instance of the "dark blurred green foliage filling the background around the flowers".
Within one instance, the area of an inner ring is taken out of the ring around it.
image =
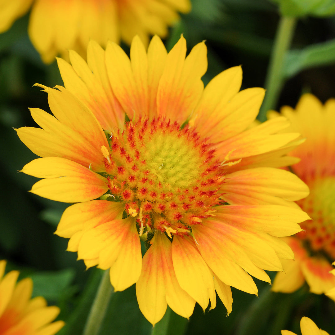
[[[275,4],[278,3],[278,8]],[[192,12],[171,28],[164,41],[170,50],[183,33],[190,50],[206,40],[207,84],[222,70],[242,64],[243,88],[263,86],[279,10],[299,20],[292,50],[286,55],[287,81],[279,97],[282,105],[295,106],[300,94],[311,91],[322,101],[335,96],[335,18],[315,18],[335,13],[330,0],[193,0]],[[34,296],[43,295],[61,309],[66,322],[60,335],[80,334],[101,278],[98,269],[85,269],[76,254],[66,252],[67,241],[53,233],[68,204],[28,193],[36,180],[18,171],[37,158],[18,139],[15,130],[36,126],[28,107],[49,111],[47,95],[32,87],[62,84],[56,62],[47,66],[40,60],[27,36],[28,16],[17,20],[0,35],[0,259],[7,259],[7,271],[18,269],[21,278],[34,280]],[[125,47],[129,52],[129,49]],[[271,274],[273,277],[274,274]],[[259,297],[233,289],[233,310],[219,299],[217,307],[203,313],[197,305],[189,321],[168,311],[160,321],[169,325],[168,334],[280,334],[281,329],[299,333],[302,316],[311,317],[319,327],[332,333],[335,304],[325,296],[308,292],[304,286],[292,295],[272,293],[257,281]],[[103,335],[148,334],[151,325],[139,311],[135,287],[116,292],[103,325]],[[157,331],[153,334],[158,335]]]

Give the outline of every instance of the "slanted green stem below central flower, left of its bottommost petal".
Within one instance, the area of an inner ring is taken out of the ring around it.
[[[104,321],[108,304],[114,288],[109,279],[109,270],[101,278],[91,310],[89,312],[83,335],[98,335]]]

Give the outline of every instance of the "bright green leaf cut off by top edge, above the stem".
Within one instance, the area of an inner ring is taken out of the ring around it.
[[[334,0],[272,0],[279,4],[280,12],[285,16],[305,15],[330,16],[335,14]]]

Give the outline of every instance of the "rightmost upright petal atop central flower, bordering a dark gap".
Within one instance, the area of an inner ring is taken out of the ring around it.
[[[207,48],[197,44],[186,57],[186,41],[181,37],[166,58],[157,92],[157,113],[183,123],[195,108],[207,70]]]

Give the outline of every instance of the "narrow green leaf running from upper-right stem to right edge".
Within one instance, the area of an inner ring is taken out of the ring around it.
[[[303,50],[291,50],[287,52],[283,75],[290,78],[298,72],[321,65],[335,62],[335,39],[325,43],[314,44]]]

